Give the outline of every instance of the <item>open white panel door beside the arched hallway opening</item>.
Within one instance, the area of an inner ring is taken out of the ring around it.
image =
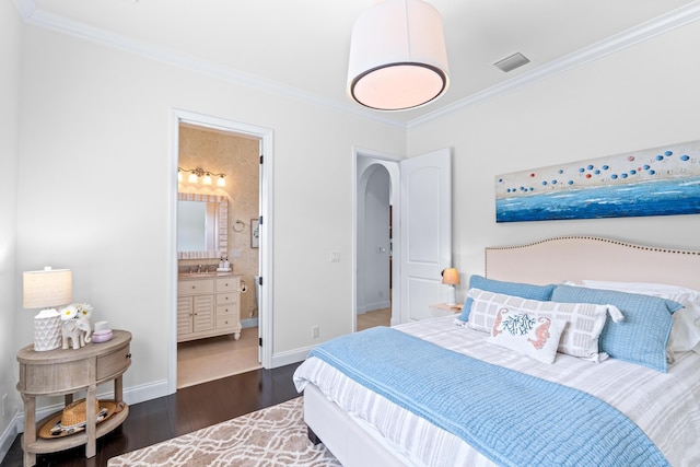
[[[452,266],[452,157],[442,149],[400,162],[401,323],[430,317]]]

